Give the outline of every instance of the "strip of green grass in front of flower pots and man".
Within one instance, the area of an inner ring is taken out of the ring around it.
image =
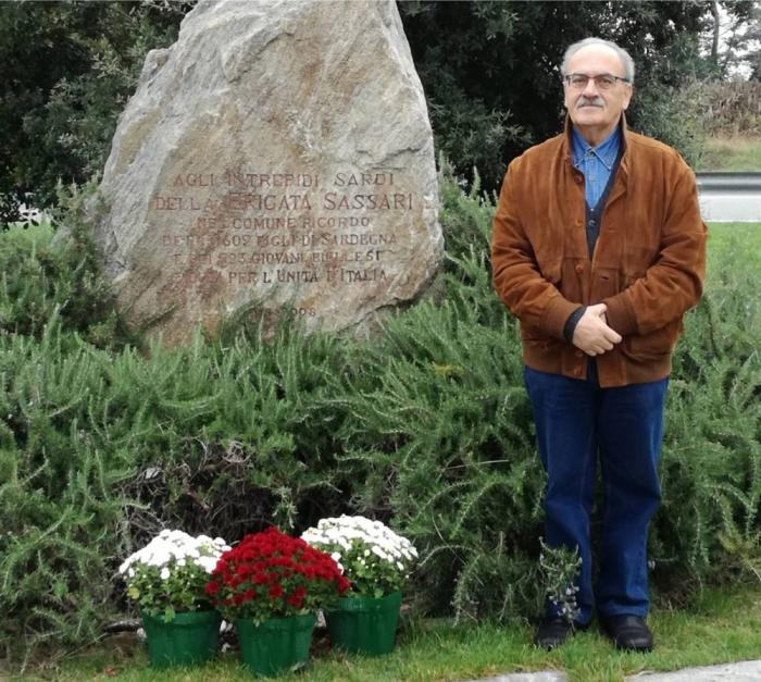
[[[643,655],[616,652],[596,628],[547,653],[532,645],[534,630],[526,623],[453,625],[445,620],[412,620],[406,623],[396,650],[388,656],[344,657],[323,648],[312,656],[305,670],[280,679],[427,682],[563,670],[571,682],[596,682],[622,680],[645,670],[748,660],[761,652],[761,585],[707,591],[689,610],[656,608],[650,623],[657,647],[654,653]],[[55,669],[38,670],[24,679],[79,682],[112,678],[123,682],[233,682],[250,680],[251,675],[239,667],[233,652],[201,668],[154,671],[148,665],[145,646],[122,636],[74,656]]]

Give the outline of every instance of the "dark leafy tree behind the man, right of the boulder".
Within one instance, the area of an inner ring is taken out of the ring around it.
[[[710,2],[400,3],[437,146],[460,172],[499,186],[510,159],[561,129],[563,50],[596,34],[637,64],[629,123],[695,154],[673,92],[704,69],[698,37]],[[590,28],[591,27],[591,28]]]

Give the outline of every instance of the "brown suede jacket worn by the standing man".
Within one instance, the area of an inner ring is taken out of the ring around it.
[[[563,338],[579,305],[603,302],[623,336],[597,357],[602,387],[663,379],[682,317],[702,294],[707,228],[695,175],[671,147],[626,129],[623,154],[589,260],[584,176],[565,132],[514,159],[494,221],[491,268],[521,321],[524,362],[581,379],[587,356]]]

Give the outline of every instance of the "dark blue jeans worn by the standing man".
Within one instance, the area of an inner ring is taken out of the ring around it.
[[[578,622],[589,622],[595,606],[602,616],[646,616],[647,533],[661,499],[658,459],[669,380],[600,388],[594,361],[586,380],[529,368],[524,377],[548,475],[546,542],[578,547],[582,557]],[[592,592],[589,519],[598,452],[604,508]]]

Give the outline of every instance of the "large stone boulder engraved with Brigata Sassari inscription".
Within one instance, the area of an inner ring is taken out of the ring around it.
[[[442,255],[394,0],[201,0],[120,119],[97,231],[121,310],[184,343],[235,311],[365,330]]]

